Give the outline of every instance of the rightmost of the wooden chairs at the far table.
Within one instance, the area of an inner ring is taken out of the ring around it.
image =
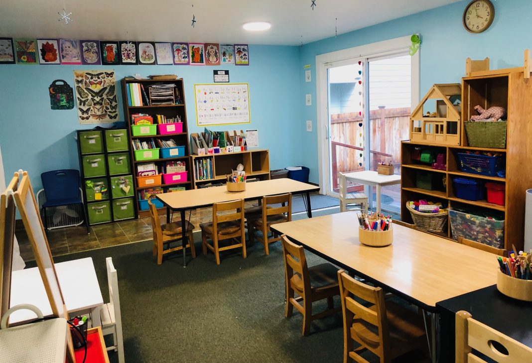
[[[281,207],[271,207],[272,204],[282,204]],[[286,213],[286,215],[285,215]],[[270,230],[270,226],[275,223],[292,221],[292,193],[280,194],[262,198],[262,213],[246,215],[247,233],[250,243],[255,240],[255,229],[262,232],[262,236],[256,236],[264,246],[264,252],[269,255],[270,243],[280,241],[281,238]],[[268,233],[272,232],[272,237],[268,238]]]

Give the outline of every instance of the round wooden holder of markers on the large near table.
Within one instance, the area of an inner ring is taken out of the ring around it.
[[[384,247],[394,240],[392,218],[384,214],[358,214],[359,241],[366,246]]]

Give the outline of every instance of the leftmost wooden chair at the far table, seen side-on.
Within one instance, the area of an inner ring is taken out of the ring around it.
[[[148,206],[149,217],[152,220],[153,229],[153,256],[157,256],[157,265],[160,265],[163,262],[163,255],[183,249],[182,246],[170,248],[170,242],[181,241],[181,221],[161,225],[159,214],[157,214],[157,207],[150,199],[148,199]],[[185,247],[190,247],[190,253],[192,254],[192,257],[196,258],[193,234],[194,225],[188,220],[185,220],[185,225],[188,233],[188,244]],[[163,248],[164,244],[166,244],[166,249]]]

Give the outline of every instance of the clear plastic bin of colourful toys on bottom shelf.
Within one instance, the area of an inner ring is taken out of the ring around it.
[[[504,217],[493,213],[493,216],[483,215],[477,210],[449,209],[453,239],[463,237],[478,241],[496,248],[504,247]]]

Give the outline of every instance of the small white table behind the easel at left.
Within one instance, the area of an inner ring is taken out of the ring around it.
[[[103,305],[102,291],[94,269],[93,259],[81,258],[55,264],[55,272],[69,314],[90,313],[92,325],[101,326],[99,306]],[[37,267],[13,271],[11,274],[10,307],[27,303],[35,305],[43,316],[52,316],[43,280]],[[17,310],[9,318],[10,324],[36,319],[30,310]]]

